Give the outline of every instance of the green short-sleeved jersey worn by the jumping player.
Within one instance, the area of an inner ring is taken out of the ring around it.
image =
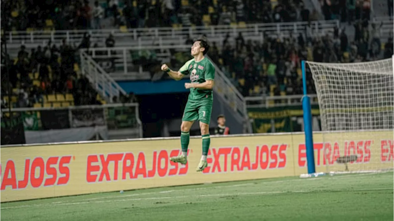
[[[191,83],[204,83],[206,80],[214,80],[215,67],[211,61],[204,57],[203,60],[195,62],[194,58],[186,62],[180,69],[180,73],[190,74]],[[190,100],[213,99],[212,90],[190,88]]]

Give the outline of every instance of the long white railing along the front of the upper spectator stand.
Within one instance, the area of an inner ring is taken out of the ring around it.
[[[308,22],[244,24],[244,25],[221,25],[221,26],[195,26],[182,28],[136,28],[136,29],[100,29],[100,30],[57,30],[57,31],[11,31],[5,37],[9,44],[42,44],[51,40],[60,43],[66,39],[69,43],[79,43],[84,33],[91,35],[91,42],[103,41],[112,34],[117,46],[145,46],[158,44],[170,45],[186,41],[186,36],[196,37],[207,35],[211,41],[219,41],[227,33],[236,37],[239,32],[245,39],[260,40],[267,35],[297,35],[304,33]],[[334,27],[339,27],[338,20],[320,20],[311,22],[314,33],[325,34]],[[152,41],[154,41],[152,43]]]

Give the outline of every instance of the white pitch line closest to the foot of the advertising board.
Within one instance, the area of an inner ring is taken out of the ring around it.
[[[341,175],[338,177],[330,177],[329,179],[347,179],[355,176],[368,176],[368,175],[375,175],[377,173],[362,173],[357,175]],[[272,183],[282,183],[282,182],[293,182],[293,181],[309,181],[309,180],[320,180],[323,177],[316,177],[316,178],[307,178],[307,179],[288,179],[288,180],[273,180],[273,181],[266,181],[266,182],[258,182],[258,184],[272,184]],[[134,194],[122,194],[122,195],[115,195],[115,196],[106,196],[106,197],[95,197],[95,198],[88,198],[88,199],[78,199],[78,200],[65,200],[65,201],[58,201],[53,203],[44,203],[44,204],[31,204],[31,205],[22,205],[22,206],[10,206],[10,207],[0,207],[0,210],[4,210],[7,208],[25,208],[25,207],[37,207],[37,206],[44,206],[44,205],[54,205],[54,204],[67,204],[70,205],[72,203],[83,204],[84,201],[92,201],[98,199],[111,199],[111,198],[124,198],[124,197],[135,197],[135,196],[143,196],[143,195],[153,195],[153,194],[164,194],[164,193],[171,193],[171,192],[185,192],[185,191],[197,191],[197,190],[207,190],[207,189],[219,189],[219,188],[232,188],[237,186],[249,186],[254,185],[255,182],[245,183],[245,184],[235,184],[235,185],[225,185],[225,186],[209,186],[209,187],[200,187],[200,188],[185,188],[180,190],[167,190],[167,191],[160,191],[160,192],[147,192],[147,193],[134,193]],[[300,190],[302,191],[302,190]],[[12,203],[12,202],[11,202]],[[89,203],[89,202],[87,202]],[[0,203],[1,205],[2,203]]]

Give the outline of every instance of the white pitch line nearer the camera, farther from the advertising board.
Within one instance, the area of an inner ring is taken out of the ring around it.
[[[372,191],[372,190],[394,190],[393,188],[371,188],[371,189],[354,189],[352,191]],[[9,206],[0,208],[5,209],[18,209],[18,208],[32,208],[41,206],[71,206],[79,204],[93,204],[93,203],[115,203],[115,202],[128,202],[128,201],[144,201],[144,200],[162,200],[162,199],[184,199],[184,198],[203,198],[203,197],[225,197],[225,196],[242,196],[242,195],[267,195],[267,194],[282,194],[282,193],[309,193],[316,190],[292,190],[292,191],[273,191],[273,192],[249,192],[249,193],[222,193],[222,194],[204,194],[204,195],[183,195],[183,196],[169,196],[169,197],[149,197],[149,198],[134,198],[134,199],[115,199],[106,201],[84,201],[75,203],[47,203],[47,204],[31,204],[24,206]]]

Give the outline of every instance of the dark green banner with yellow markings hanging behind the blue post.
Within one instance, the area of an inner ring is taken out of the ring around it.
[[[247,108],[252,119],[253,133],[278,133],[303,131],[302,106],[283,106],[269,108]],[[319,106],[312,105],[312,128],[320,131]]]

